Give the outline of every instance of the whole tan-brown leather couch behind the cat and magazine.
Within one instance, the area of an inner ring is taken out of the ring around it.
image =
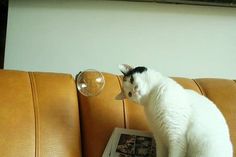
[[[0,156],[101,157],[115,127],[148,130],[142,106],[115,100],[119,76],[104,76],[102,93],[85,97],[70,74],[1,70]],[[217,104],[235,145],[236,82],[174,79]]]

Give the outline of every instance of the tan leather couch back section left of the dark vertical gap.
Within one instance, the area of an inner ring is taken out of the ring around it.
[[[82,156],[71,75],[0,71],[0,156]]]

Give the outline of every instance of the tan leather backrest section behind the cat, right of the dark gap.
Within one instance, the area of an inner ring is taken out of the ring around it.
[[[85,97],[79,94],[84,157],[100,157],[114,127],[149,130],[142,106],[127,100],[115,100],[115,96],[121,90],[120,77],[108,73],[104,73],[104,77],[106,84],[100,95]],[[227,120],[231,140],[236,145],[235,81],[226,79],[174,79],[184,88],[195,90],[216,103]]]

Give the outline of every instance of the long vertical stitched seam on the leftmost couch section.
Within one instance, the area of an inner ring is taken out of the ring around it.
[[[34,117],[35,117],[35,157],[39,157],[39,108],[38,108],[38,97],[37,97],[37,88],[35,77],[33,73],[28,73],[31,84],[32,98],[33,98],[33,108],[34,108]]]

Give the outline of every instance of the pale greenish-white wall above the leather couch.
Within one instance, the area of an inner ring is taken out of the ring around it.
[[[145,65],[168,76],[236,78],[236,9],[10,0],[5,69],[76,74]]]

